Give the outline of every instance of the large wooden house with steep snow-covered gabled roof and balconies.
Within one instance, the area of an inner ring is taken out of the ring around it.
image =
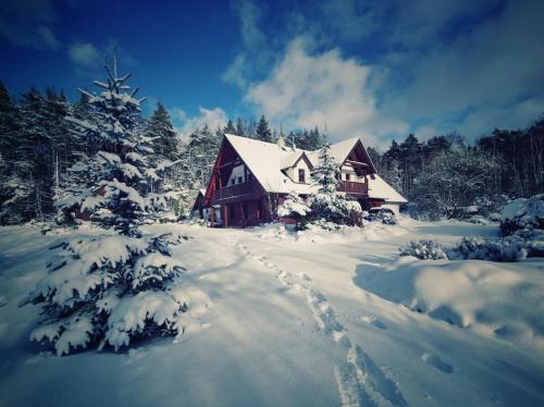
[[[339,190],[363,209],[387,205],[398,211],[406,202],[376,174],[360,138],[332,145],[330,155],[341,163]],[[306,197],[317,189],[310,173],[318,162],[319,151],[286,147],[283,139],[271,144],[227,134],[195,209],[209,208],[208,219],[224,227],[270,222],[287,194]]]

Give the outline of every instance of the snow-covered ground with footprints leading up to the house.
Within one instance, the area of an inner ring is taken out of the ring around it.
[[[544,261],[398,258],[496,226],[159,229],[189,237],[185,333],[69,357],[28,342],[40,308],[17,306],[63,236],[0,229],[0,406],[544,404]]]

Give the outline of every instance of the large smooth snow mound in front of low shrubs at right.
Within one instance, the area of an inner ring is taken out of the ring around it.
[[[434,319],[544,348],[543,266],[401,257],[386,268],[360,266],[354,282]]]

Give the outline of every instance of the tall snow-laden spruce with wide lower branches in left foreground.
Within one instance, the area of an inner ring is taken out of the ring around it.
[[[175,284],[184,270],[171,258],[169,235],[144,236],[138,224],[149,207],[146,171],[152,149],[140,127],[136,90],[107,67],[107,82],[95,82],[99,95],[82,90],[94,121],[73,116],[82,137],[100,150],[73,169],[87,185],[61,202],[89,213],[108,232],[69,238],[48,264],[25,303],[44,304],[44,319],[30,340],[54,346],[58,355],[78,348],[122,349],[135,338],[173,335],[185,305]]]

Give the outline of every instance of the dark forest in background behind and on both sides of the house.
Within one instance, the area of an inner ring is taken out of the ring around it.
[[[100,149],[91,139],[78,137],[67,116],[91,118],[85,94],[73,103],[52,88],[32,88],[14,98],[0,84],[1,224],[57,215],[54,201],[78,182],[71,168]],[[149,118],[139,119],[139,126],[153,139],[154,161],[175,162],[156,185],[170,194],[182,217],[196,192],[206,187],[225,133],[268,143],[283,137],[287,146],[307,150],[329,139],[318,127],[289,133],[271,128],[264,116],[230,120],[214,130],[205,125],[181,137],[160,102]],[[509,199],[544,192],[544,119],[524,130],[495,130],[473,144],[456,133],[425,141],[410,134],[400,143],[393,140],[386,150],[367,147],[379,174],[407,197],[415,217],[459,217],[462,208],[474,205],[485,214]]]

